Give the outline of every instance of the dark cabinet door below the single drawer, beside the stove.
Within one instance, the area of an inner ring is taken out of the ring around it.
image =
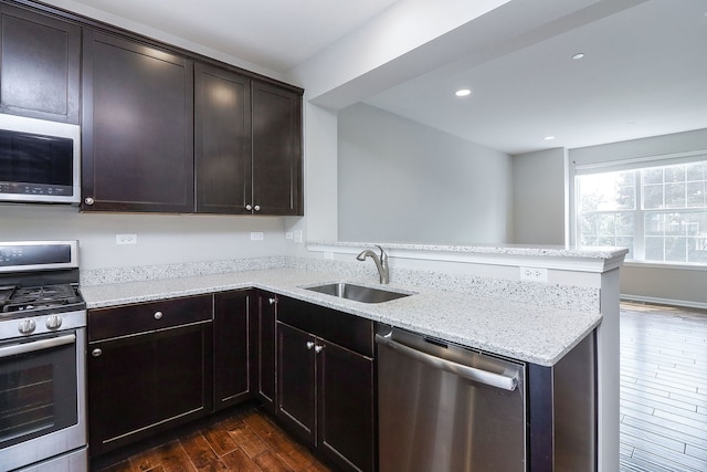
[[[211,322],[91,343],[92,454],[210,412],[211,349]]]

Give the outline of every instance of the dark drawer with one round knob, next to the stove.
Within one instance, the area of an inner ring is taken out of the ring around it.
[[[210,321],[211,295],[170,298],[88,311],[88,340],[151,332]]]

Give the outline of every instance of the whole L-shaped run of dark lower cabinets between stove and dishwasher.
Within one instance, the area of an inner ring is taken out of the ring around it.
[[[93,458],[256,397],[337,470],[377,470],[373,323],[258,290],[88,312]]]

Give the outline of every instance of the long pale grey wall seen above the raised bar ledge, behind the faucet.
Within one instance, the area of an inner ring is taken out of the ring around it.
[[[365,104],[338,114],[342,241],[500,243],[510,157]]]

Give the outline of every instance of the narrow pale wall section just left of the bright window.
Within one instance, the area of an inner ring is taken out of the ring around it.
[[[564,243],[566,149],[513,157],[513,242]]]

